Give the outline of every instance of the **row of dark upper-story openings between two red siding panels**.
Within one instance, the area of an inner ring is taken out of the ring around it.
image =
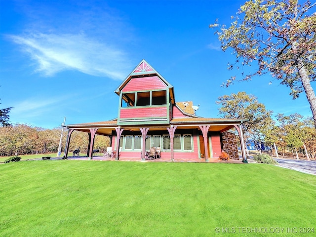
[[[167,91],[166,90],[122,94],[121,107],[166,105],[166,104],[167,104]]]

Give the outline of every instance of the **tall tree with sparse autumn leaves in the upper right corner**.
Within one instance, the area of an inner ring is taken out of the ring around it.
[[[249,0],[240,6],[237,17],[232,16],[235,20],[230,27],[215,22],[210,28],[217,28],[222,50],[233,49],[236,55],[229,70],[257,62],[258,69],[246,75],[242,72],[241,80],[271,73],[290,87],[293,99],[305,91],[316,127],[316,96],[311,86],[316,80],[315,6],[309,0],[304,4],[298,0]],[[224,86],[235,79],[231,77]]]

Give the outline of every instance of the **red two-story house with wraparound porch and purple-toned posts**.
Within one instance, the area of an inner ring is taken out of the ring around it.
[[[109,121],[65,125],[69,129],[65,158],[73,131],[88,133],[87,157],[92,159],[96,134],[110,136],[115,158],[145,160],[146,151],[159,147],[161,157],[218,158],[222,149],[238,159],[236,136],[227,132],[236,128],[243,142],[245,119],[201,118],[191,101],[176,102],[173,86],[148,62],[142,60],[115,90],[118,117]],[[243,161],[246,162],[242,146]]]

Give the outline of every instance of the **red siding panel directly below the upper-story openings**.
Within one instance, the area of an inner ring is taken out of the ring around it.
[[[121,108],[119,118],[167,118],[167,107]]]

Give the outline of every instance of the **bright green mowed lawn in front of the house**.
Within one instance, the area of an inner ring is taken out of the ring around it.
[[[315,220],[316,176],[273,165],[0,164],[0,236],[226,236],[225,228],[267,236],[242,227],[297,236],[286,228],[316,228]]]

